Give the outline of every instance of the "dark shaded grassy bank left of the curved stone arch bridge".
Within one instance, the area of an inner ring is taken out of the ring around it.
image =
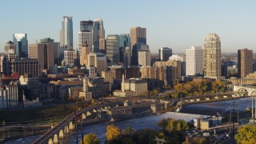
[[[55,106],[42,106],[26,109],[0,110],[0,122],[5,120],[6,124],[10,122],[50,122],[58,121],[66,115],[78,110],[79,105],[76,102]],[[81,107],[88,106],[83,104]]]

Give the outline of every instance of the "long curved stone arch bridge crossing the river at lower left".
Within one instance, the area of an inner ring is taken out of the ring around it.
[[[168,108],[168,106],[170,106],[170,102],[160,102],[152,100],[148,101],[139,99],[137,101],[133,100],[130,102],[109,102],[98,106],[89,106],[82,110],[75,111],[72,114],[69,114],[66,118],[62,120],[62,122],[59,122],[57,126],[54,126],[54,128],[47,131],[40,138],[36,139],[33,143],[64,143],[66,142],[66,138],[70,134],[70,131],[74,131],[75,129],[77,129],[75,123],[81,121],[88,121],[88,118],[92,114],[96,115],[96,118],[89,119],[89,121],[94,120],[94,122],[96,122],[97,120],[99,120],[99,122],[101,122],[104,118],[106,121],[111,121],[113,120],[113,118],[131,117],[135,108],[141,109],[145,106],[149,106],[150,110],[156,113],[158,110]],[[102,113],[105,113],[105,115],[103,115]]]

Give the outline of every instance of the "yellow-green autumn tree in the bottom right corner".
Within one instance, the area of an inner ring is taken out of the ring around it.
[[[239,127],[238,134],[234,135],[237,143],[256,143],[256,126],[245,125]]]

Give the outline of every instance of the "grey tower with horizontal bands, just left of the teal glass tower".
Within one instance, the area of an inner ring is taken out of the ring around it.
[[[118,35],[108,35],[106,37],[106,58],[108,64],[118,64],[119,61],[119,37]]]

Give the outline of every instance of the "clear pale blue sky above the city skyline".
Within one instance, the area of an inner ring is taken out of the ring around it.
[[[0,0],[0,52],[14,33],[59,42],[62,16],[73,16],[74,47],[79,22],[102,18],[105,34],[126,34],[146,27],[152,54],[167,46],[174,54],[190,46],[203,46],[206,34],[221,38],[222,52],[256,51],[255,0]]]

